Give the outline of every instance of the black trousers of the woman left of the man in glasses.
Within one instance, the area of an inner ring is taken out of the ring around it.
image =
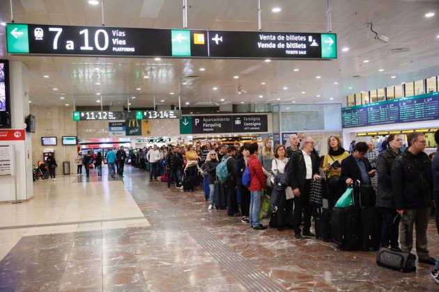
[[[380,209],[383,214],[383,226],[381,227],[381,246],[390,248],[398,248],[398,232],[399,232],[399,221],[401,217],[395,209]]]

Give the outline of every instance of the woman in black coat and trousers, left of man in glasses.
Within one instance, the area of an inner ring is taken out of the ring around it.
[[[389,143],[389,147],[378,156],[378,161],[376,162],[376,171],[378,174],[376,206],[380,208],[383,216],[380,246],[387,248],[390,243],[390,248],[398,250],[398,226],[401,217],[396,212],[390,173],[394,159],[401,154],[399,148],[402,145],[402,139],[398,134],[390,134],[387,137],[387,142]]]

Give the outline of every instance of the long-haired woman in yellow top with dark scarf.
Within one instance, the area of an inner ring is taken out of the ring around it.
[[[323,172],[325,172],[325,175],[328,178],[332,204],[337,202],[343,193],[343,188],[339,181],[341,175],[341,161],[348,156],[349,153],[341,147],[340,138],[334,135],[329,136],[328,153],[323,159]]]

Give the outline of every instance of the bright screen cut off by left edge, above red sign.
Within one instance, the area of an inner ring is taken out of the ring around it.
[[[0,60],[0,128],[10,128],[9,62]]]

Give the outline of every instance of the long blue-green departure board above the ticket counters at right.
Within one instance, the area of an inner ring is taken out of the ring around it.
[[[439,119],[439,92],[341,108],[343,128]]]

